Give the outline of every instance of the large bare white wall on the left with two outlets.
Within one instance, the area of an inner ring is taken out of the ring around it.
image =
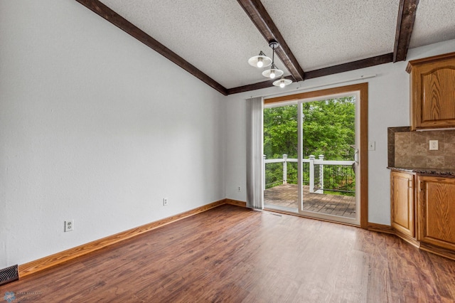
[[[0,64],[0,268],[225,198],[225,97],[76,1],[1,0]]]

